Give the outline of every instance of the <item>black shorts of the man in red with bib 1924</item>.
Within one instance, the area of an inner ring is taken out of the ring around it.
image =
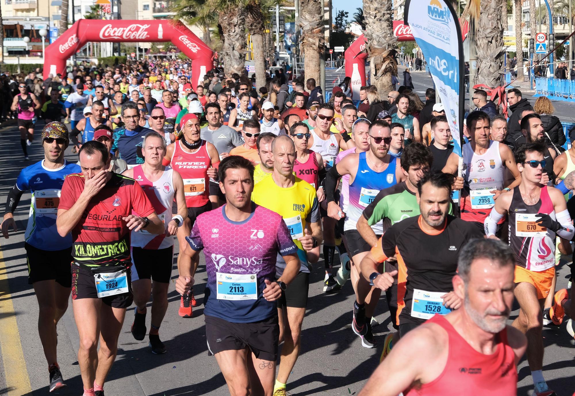
[[[124,266],[101,266],[89,268],[72,263],[72,300],[79,300],[80,298],[98,298],[96,291],[96,284],[94,281],[94,274],[100,272],[116,272],[124,269]],[[112,308],[128,308],[132,305],[134,295],[132,294],[132,280],[131,271],[128,268],[126,271],[128,275],[128,293],[116,294],[115,296],[102,297],[104,304]]]

